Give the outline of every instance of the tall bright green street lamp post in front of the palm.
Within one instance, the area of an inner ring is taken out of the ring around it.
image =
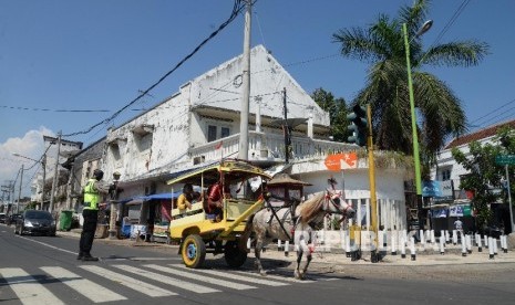
[[[428,32],[433,25],[433,20],[428,20],[424,22],[422,28],[416,32],[416,38]],[[408,40],[408,25],[402,24],[402,30],[404,32],[404,44],[406,53],[406,70],[408,70],[408,90],[410,92],[410,108],[411,108],[411,129],[413,133],[413,159],[415,164],[415,187],[416,187],[416,208],[419,210],[419,225],[422,229],[422,181],[420,173],[420,152],[419,152],[419,136],[416,134],[416,114],[415,114],[415,101],[413,97],[413,82],[411,78],[411,63],[410,63],[410,41]]]

